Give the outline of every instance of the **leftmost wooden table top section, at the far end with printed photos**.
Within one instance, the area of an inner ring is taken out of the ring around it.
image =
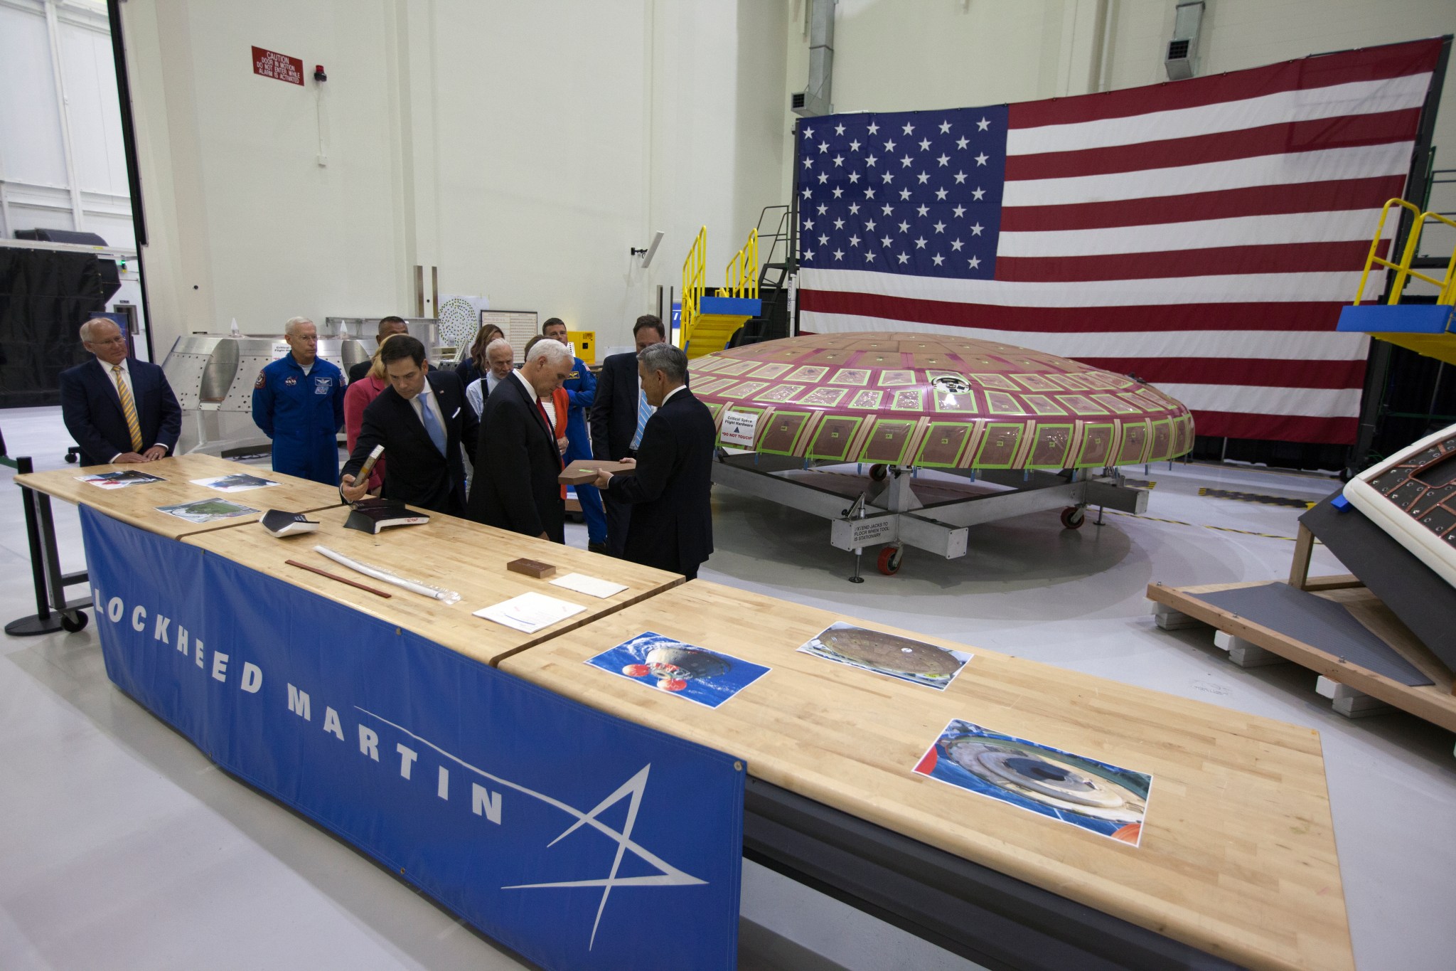
[[[77,479],[77,476],[83,475],[128,470],[160,476],[165,482],[134,485],[124,489],[102,489]],[[207,486],[192,485],[192,479],[211,479],[239,472],[272,479],[280,485],[268,486],[266,489],[249,489],[246,492],[218,492]],[[170,539],[256,523],[262,518],[262,511],[268,510],[312,512],[342,504],[339,491],[335,486],[204,454],[176,456],[140,464],[86,466],[84,469],[32,472],[16,476],[15,480],[51,498],[77,505],[89,505],[115,520]],[[188,523],[169,512],[157,512],[159,505],[178,505],[197,499],[227,499],[239,505],[261,510],[261,512],[214,520],[213,523]]]

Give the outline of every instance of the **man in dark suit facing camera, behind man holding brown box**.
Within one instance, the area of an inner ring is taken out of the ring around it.
[[[638,354],[654,344],[661,344],[665,336],[662,322],[655,314],[645,313],[632,326],[636,352],[613,354],[601,362],[597,395],[591,405],[593,457],[619,461],[636,456],[646,419],[652,416],[652,406],[642,395],[642,384],[638,381]],[[622,556],[632,507],[617,502],[606,492],[601,494],[601,499],[607,514],[607,552],[612,556]]]

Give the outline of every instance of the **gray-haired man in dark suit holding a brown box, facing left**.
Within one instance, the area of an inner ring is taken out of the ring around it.
[[[604,496],[630,504],[623,555],[689,579],[713,552],[709,499],[713,444],[712,412],[687,390],[687,354],[654,344],[638,355],[642,392],[657,409],[636,450],[633,475],[597,476]]]

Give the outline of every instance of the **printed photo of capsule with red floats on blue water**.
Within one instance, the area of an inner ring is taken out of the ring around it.
[[[584,664],[718,708],[772,668],[645,630]]]

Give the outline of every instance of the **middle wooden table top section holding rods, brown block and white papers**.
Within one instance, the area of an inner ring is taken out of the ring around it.
[[[322,523],[316,531],[284,539],[274,539],[261,526],[255,526],[201,533],[183,542],[269,576],[285,579],[320,597],[348,604],[486,664],[495,664],[517,651],[683,582],[677,574],[438,512],[431,512],[430,523],[422,526],[396,526],[377,536],[344,528],[344,520],[348,518],[347,507],[325,510],[310,518]],[[357,574],[313,552],[314,546],[328,546],[351,559],[384,566],[406,579],[453,590],[460,594],[460,601],[446,604]],[[534,579],[505,569],[510,560],[520,558],[552,563],[556,566],[556,574]],[[288,566],[285,563],[288,559],[348,576],[393,595],[386,600],[336,579]],[[550,582],[572,572],[625,584],[626,590],[601,600]],[[475,610],[529,591],[581,604],[587,610],[536,633],[523,633],[494,620],[472,616]]]

